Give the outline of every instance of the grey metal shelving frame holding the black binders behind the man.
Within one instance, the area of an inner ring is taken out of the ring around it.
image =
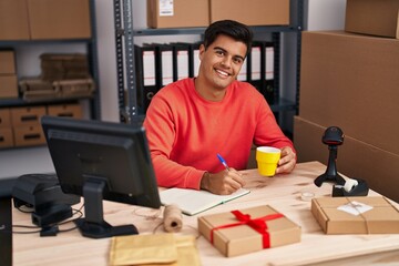
[[[158,35],[183,35],[183,34],[204,34],[207,27],[194,28],[167,28],[167,29],[152,29],[142,28],[135,29],[132,25],[133,0],[115,0],[115,29],[116,29],[116,57],[117,57],[117,75],[119,75],[119,103],[121,121],[129,122],[137,112],[137,82],[135,76],[135,59],[134,59],[134,38],[141,37],[158,37]],[[126,8],[127,7],[127,8]],[[289,21],[287,25],[252,25],[250,29],[254,37],[269,39],[263,33],[270,33],[270,39],[276,43],[275,47],[275,76],[274,88],[276,90],[275,103],[270,104],[273,112],[298,112],[299,102],[299,76],[300,76],[300,40],[304,24],[304,0],[289,1]],[[288,33],[288,34],[285,34]],[[256,39],[254,39],[256,40]],[[289,53],[286,52],[289,49]],[[295,63],[288,62],[291,59]],[[125,65],[123,62],[126,63]],[[284,88],[284,95],[295,100],[280,98],[280,88]],[[129,93],[125,93],[129,91]],[[289,124],[289,121],[288,123]],[[288,125],[289,126],[289,125]]]

